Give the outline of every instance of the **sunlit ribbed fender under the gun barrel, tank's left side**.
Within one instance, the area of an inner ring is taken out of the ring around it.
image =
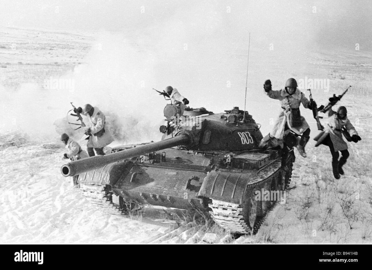
[[[81,184],[92,185],[115,185],[120,179],[124,179],[128,172],[133,167],[132,161],[122,161],[110,163],[102,168],[94,169],[92,171],[84,172],[79,175],[79,182]]]

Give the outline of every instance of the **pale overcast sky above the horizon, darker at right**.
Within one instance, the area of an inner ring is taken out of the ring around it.
[[[228,0],[0,0],[2,26],[141,31],[167,29],[232,35],[250,31],[268,39],[310,45],[372,48],[372,2]]]

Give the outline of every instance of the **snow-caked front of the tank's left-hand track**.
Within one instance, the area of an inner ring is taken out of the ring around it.
[[[107,185],[80,184],[83,196],[98,209],[105,210],[112,215],[122,215],[123,210],[112,202],[112,193],[108,191]]]

